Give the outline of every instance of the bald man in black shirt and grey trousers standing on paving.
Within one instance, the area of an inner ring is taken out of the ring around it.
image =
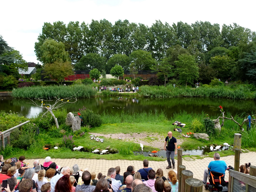
[[[166,167],[166,169],[172,168],[172,164],[173,168],[175,168],[174,155],[177,154],[177,140],[175,137],[173,137],[173,133],[171,131],[167,133],[167,137],[165,138],[164,150],[166,151],[166,158],[168,162],[168,166]],[[170,161],[170,157],[172,159],[172,164]]]

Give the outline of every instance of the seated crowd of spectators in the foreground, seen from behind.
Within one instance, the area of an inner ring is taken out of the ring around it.
[[[6,192],[177,192],[176,173],[169,171],[168,179],[162,169],[153,170],[144,159],[143,168],[135,172],[134,166],[128,166],[120,175],[120,166],[109,168],[107,175],[82,170],[77,164],[73,167],[58,167],[45,158],[41,165],[35,160],[34,166],[26,166],[25,157],[11,158],[6,161],[0,155],[0,182],[7,179]],[[23,165],[23,166],[22,166]],[[58,170],[59,169],[59,170]],[[96,178],[97,176],[97,178]]]

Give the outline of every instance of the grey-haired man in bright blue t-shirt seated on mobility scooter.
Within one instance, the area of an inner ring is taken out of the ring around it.
[[[205,185],[207,182],[207,177],[208,177],[208,169],[210,169],[211,171],[216,171],[219,173],[223,173],[225,175],[225,171],[227,170],[227,164],[225,163],[225,161],[220,161],[220,154],[219,153],[215,153],[213,155],[214,161],[211,161],[208,165],[208,168],[205,169],[204,172],[204,180],[203,180],[203,184]]]

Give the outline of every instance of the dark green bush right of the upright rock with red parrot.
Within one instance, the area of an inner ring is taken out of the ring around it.
[[[104,91],[103,91],[104,92]],[[99,127],[102,124],[102,119],[100,115],[95,114],[92,110],[82,108],[78,111],[83,120],[83,126],[90,126],[90,127]],[[73,112],[74,114],[77,114],[77,112]]]

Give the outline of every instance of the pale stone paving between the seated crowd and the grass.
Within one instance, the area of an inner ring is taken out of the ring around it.
[[[202,180],[204,169],[207,168],[210,161],[213,161],[212,157],[205,157],[204,159],[195,159],[195,161],[186,161],[183,158],[182,164],[186,166],[187,170],[193,172],[193,177]],[[231,165],[234,167],[234,155],[221,157],[220,160],[226,162],[227,166]],[[33,162],[35,159],[26,159],[25,162],[30,163],[30,166],[33,166]],[[39,159],[40,163],[44,163],[44,159]],[[89,172],[95,172],[96,175],[101,172],[103,175],[107,175],[108,169],[111,167],[120,166],[121,174],[126,171],[126,168],[129,165],[133,165],[135,170],[143,168],[142,161],[129,161],[129,160],[103,160],[103,159],[51,159],[52,162],[55,162],[57,165],[69,166],[72,167],[74,164],[78,164],[81,169],[89,169]],[[251,163],[251,165],[256,165],[256,153],[248,152],[240,154],[240,165],[245,163]],[[165,176],[168,175],[169,170],[173,170],[172,168],[166,169],[168,165],[167,161],[149,161],[149,167],[152,167],[155,171],[158,168],[163,169]],[[177,160],[175,159],[175,165],[177,170]],[[229,173],[226,171],[225,180],[228,180]],[[204,188],[203,188],[204,189]],[[205,189],[204,189],[205,191]]]

